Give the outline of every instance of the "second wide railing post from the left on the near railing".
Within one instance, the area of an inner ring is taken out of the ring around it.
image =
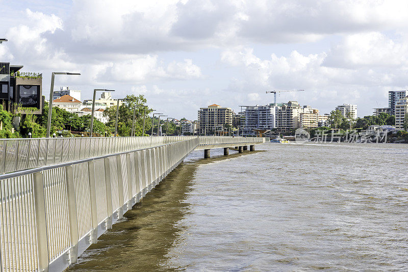
[[[65,167],[65,178],[67,184],[68,217],[69,217],[69,237],[71,248],[69,249],[69,263],[76,263],[78,260],[78,215],[77,198],[75,194],[75,184],[73,181],[73,167]]]

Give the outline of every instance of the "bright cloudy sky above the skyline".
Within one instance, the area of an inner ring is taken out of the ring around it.
[[[408,1],[4,1],[0,60],[60,86],[143,94],[170,117],[296,100],[358,115],[408,89]]]

